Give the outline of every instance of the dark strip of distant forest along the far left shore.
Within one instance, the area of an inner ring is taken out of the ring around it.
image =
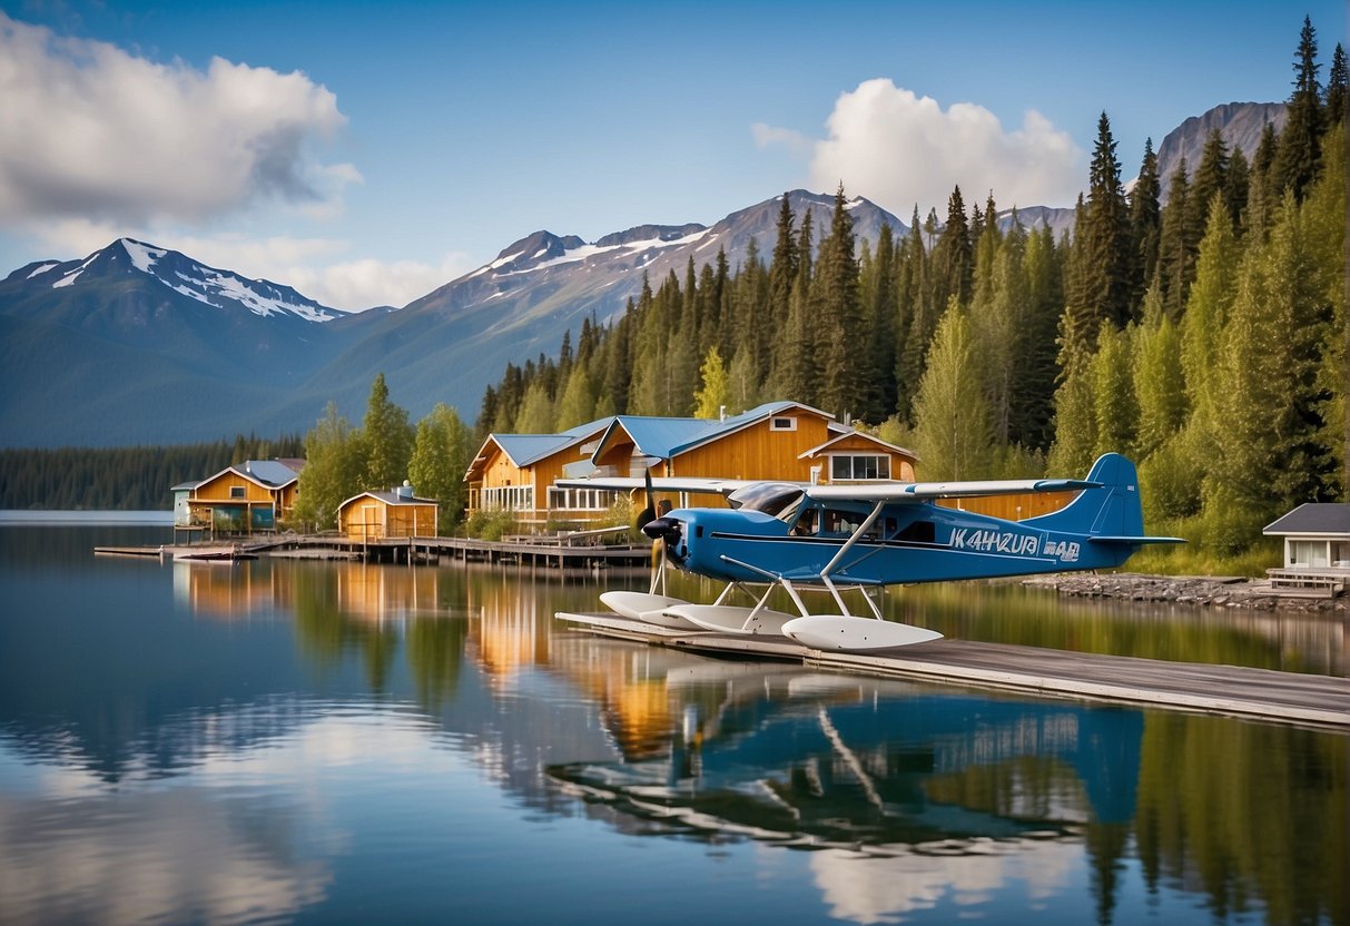
[[[302,456],[300,435],[184,447],[0,450],[0,508],[150,512],[171,509],[170,486],[232,463]]]

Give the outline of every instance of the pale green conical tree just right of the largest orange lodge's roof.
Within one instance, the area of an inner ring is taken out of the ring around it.
[[[972,479],[992,466],[992,431],[971,325],[953,294],[914,400],[914,450],[925,479]]]

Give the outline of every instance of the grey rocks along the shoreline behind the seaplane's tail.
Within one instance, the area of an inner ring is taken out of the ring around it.
[[[1326,590],[1274,589],[1268,579],[1241,576],[1075,572],[1031,576],[1023,579],[1022,584],[1053,589],[1061,595],[1083,598],[1118,598],[1202,607],[1330,611],[1341,616],[1350,611],[1350,597],[1345,594],[1332,598]]]

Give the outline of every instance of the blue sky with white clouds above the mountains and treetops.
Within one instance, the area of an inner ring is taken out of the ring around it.
[[[1324,80],[1343,0],[0,0],[0,273],[130,235],[358,309],[801,186],[1072,205],[1102,111],[1129,178],[1287,99],[1304,13]]]

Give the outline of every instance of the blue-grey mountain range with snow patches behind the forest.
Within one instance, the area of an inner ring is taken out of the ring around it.
[[[1220,130],[1251,124],[1251,107],[1277,105],[1216,107],[1162,147],[1203,147],[1216,120]],[[585,319],[621,313],[644,278],[655,288],[675,274],[683,283],[690,262],[697,271],[718,252],[734,273],[752,240],[767,261],[782,196],[711,225],[647,223],[595,242],[539,229],[405,306],[358,313],[130,238],[84,259],[30,262],[0,279],[0,433],[9,447],[101,447],[305,432],[328,401],[359,420],[378,373],[414,420],[439,401],[473,418],[508,362],[555,355]],[[834,197],[786,196],[798,231],[811,215],[818,246]],[[883,224],[909,232],[864,197],[848,208],[860,247]],[[1000,212],[999,223],[1011,216]],[[1073,209],[1025,207],[1017,216],[1058,238]]]

